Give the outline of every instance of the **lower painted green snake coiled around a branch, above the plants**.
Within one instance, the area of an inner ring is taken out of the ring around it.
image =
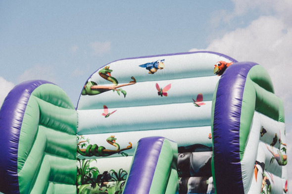
[[[132,149],[132,143],[129,142],[129,146],[127,146],[126,148],[120,149],[120,145],[116,143],[116,139],[114,135],[108,137],[106,139],[106,142],[114,147],[116,147],[115,150],[108,150],[105,149],[105,147],[103,146],[97,146],[97,144],[90,144],[90,139],[86,139],[85,137],[80,135],[77,136],[77,153],[79,153],[80,155],[83,156],[109,156],[109,155],[113,155],[113,154],[120,154],[123,156],[128,156],[127,153],[123,152],[125,150],[129,150]]]

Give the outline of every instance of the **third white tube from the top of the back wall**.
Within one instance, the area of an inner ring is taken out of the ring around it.
[[[194,127],[211,125],[212,102],[195,107],[193,103],[168,104],[146,107],[127,107],[105,118],[103,110],[78,111],[78,135],[105,132]]]

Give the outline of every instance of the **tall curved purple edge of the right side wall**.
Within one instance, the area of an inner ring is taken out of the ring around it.
[[[244,194],[240,161],[243,90],[253,62],[229,66],[218,83],[214,107],[214,171],[217,194]]]

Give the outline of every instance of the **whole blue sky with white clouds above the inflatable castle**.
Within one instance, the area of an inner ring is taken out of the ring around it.
[[[291,0],[2,0],[0,18],[0,104],[14,85],[46,79],[76,106],[111,61],[210,50],[269,72],[292,138]]]

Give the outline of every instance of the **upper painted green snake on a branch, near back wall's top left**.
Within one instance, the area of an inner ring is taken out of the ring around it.
[[[127,86],[127,85],[133,85],[136,83],[136,79],[132,76],[131,79],[133,81],[130,81],[129,83],[124,83],[124,84],[118,84],[118,80],[114,77],[111,76],[112,70],[109,69],[109,66],[106,66],[99,70],[98,75],[101,78],[104,78],[112,83],[114,83],[112,86],[106,86],[106,85],[97,85],[96,82],[92,81],[89,79],[86,84],[84,85],[84,88],[82,89],[82,95],[97,95],[109,90],[112,91],[117,91],[117,94],[120,95],[121,93],[126,97],[127,92],[123,90],[121,87]],[[120,89],[117,89],[120,88]]]

